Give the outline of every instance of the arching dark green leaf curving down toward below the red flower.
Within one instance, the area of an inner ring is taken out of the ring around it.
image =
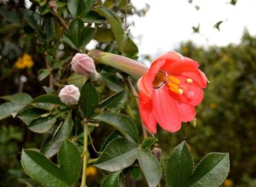
[[[124,114],[104,113],[94,119],[102,121],[118,129],[129,141],[138,142],[138,130],[134,122]]]

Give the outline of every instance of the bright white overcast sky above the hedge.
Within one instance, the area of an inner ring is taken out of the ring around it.
[[[193,40],[198,45],[227,45],[239,42],[247,28],[256,34],[256,0],[132,0],[137,8],[145,3],[150,10],[145,17],[133,16],[134,27],[130,27],[141,54],[153,56],[178,47],[180,42]],[[197,11],[195,6],[200,9]],[[213,28],[218,21],[220,32]],[[193,34],[192,26],[200,23],[200,34]]]

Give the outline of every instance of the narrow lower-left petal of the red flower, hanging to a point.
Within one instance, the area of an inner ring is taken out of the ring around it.
[[[140,110],[140,116],[145,123],[145,126],[147,127],[147,130],[151,134],[156,133],[156,119],[153,116],[152,113],[152,102],[149,101],[145,103],[143,100],[145,99],[144,95],[139,95],[140,97],[140,105],[139,105],[139,110]],[[147,98],[146,98],[147,99]]]

